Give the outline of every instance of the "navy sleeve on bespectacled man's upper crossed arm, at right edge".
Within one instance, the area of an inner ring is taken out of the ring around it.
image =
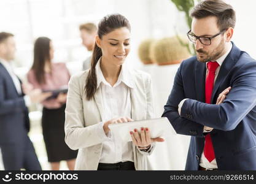
[[[193,121],[222,131],[231,131],[256,105],[256,63],[239,67],[231,81],[231,91],[220,105],[187,99],[181,117],[190,113]]]

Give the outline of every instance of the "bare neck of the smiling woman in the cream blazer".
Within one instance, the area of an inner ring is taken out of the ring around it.
[[[117,66],[107,62],[106,59],[101,59],[101,71],[103,72],[103,76],[111,86],[117,82],[122,66]]]

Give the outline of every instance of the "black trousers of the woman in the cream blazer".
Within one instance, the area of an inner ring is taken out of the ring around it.
[[[126,161],[124,163],[116,163],[116,164],[105,164],[99,163],[98,170],[132,170],[135,171],[134,163],[131,161]]]

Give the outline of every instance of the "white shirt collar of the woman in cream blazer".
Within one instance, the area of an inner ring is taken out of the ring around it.
[[[103,72],[101,71],[100,65],[101,65],[101,58],[99,58],[96,66],[95,66],[95,72],[96,72],[96,76],[97,76],[97,88],[99,87],[101,82],[103,82],[105,85],[110,85],[106,81],[106,79],[103,75]],[[134,88],[132,76],[131,76],[128,68],[125,66],[125,64],[122,64],[120,74],[119,74],[117,82],[115,83],[114,86],[119,85],[121,82],[123,82],[126,86],[128,86],[130,88]]]

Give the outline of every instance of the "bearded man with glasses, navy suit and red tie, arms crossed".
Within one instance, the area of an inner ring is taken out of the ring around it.
[[[191,16],[196,56],[180,65],[163,117],[192,136],[186,170],[255,170],[256,62],[230,41],[235,11],[206,0]]]

